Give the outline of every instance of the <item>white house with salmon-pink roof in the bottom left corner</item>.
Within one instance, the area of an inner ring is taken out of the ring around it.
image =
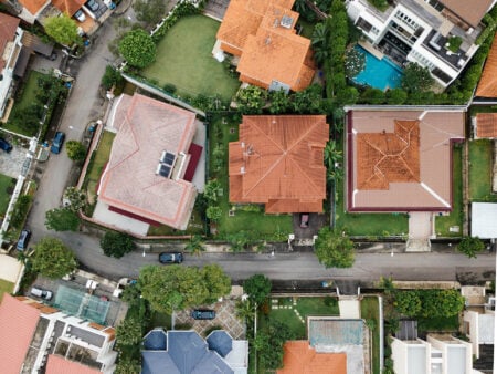
[[[24,297],[0,303],[2,373],[110,374],[115,330]]]

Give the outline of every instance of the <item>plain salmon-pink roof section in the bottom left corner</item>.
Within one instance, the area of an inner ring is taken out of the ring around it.
[[[20,373],[40,311],[3,293],[0,304],[0,363],[2,373]]]

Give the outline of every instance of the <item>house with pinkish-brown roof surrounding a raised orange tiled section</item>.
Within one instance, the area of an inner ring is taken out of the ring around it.
[[[465,110],[347,107],[348,211],[451,211],[452,145]]]

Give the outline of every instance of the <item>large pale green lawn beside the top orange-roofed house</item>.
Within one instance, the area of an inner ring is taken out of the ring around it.
[[[157,44],[156,62],[141,75],[160,86],[173,84],[179,95],[220,94],[231,101],[241,83],[212,56],[219,27],[218,21],[204,15],[182,18]]]

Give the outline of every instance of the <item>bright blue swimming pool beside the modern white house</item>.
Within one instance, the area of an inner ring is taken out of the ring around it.
[[[362,46],[356,45],[356,50],[366,54],[366,67],[352,81],[358,84],[367,84],[374,89],[385,91],[399,87],[402,79],[402,70],[387,56],[378,60]]]

